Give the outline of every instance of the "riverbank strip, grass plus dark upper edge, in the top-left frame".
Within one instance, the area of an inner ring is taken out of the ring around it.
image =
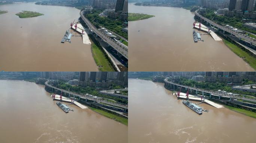
[[[94,58],[95,63],[98,66],[98,69],[100,71],[115,71],[112,64],[107,59],[106,55],[103,53],[100,48],[100,44],[94,39],[94,37],[89,34],[89,39],[92,42],[91,44],[91,51],[92,51],[92,57]]]

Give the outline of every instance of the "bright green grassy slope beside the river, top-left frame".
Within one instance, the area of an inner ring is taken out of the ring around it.
[[[112,65],[109,63],[109,61],[105,57],[103,51],[101,51],[96,44],[92,43],[91,48],[92,48],[92,56],[97,66],[103,66],[103,67],[100,67],[99,69],[100,71],[115,71]]]

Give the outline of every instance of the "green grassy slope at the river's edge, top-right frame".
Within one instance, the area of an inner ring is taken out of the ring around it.
[[[232,44],[231,42],[223,39],[223,42],[229,47],[231,51],[233,51],[235,54],[237,54],[239,57],[246,57],[244,60],[253,68],[256,70],[256,59],[246,53],[246,51],[243,51],[241,48],[239,48],[237,45]]]

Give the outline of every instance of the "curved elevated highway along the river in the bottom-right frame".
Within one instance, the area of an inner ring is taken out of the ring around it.
[[[164,81],[166,83],[170,83],[172,85],[177,85],[177,86],[180,86],[180,87],[183,87],[183,88],[188,88],[188,89],[192,89],[192,90],[198,90],[200,92],[205,92],[205,93],[211,93],[212,95],[218,95],[218,96],[225,96],[225,97],[230,97],[230,98],[237,98],[237,99],[243,99],[243,100],[247,100],[247,101],[253,101],[253,102],[256,102],[256,99],[251,99],[251,98],[244,98],[244,97],[241,97],[241,96],[237,96],[237,95],[229,95],[228,93],[223,93],[223,92],[218,92],[218,91],[214,91],[214,90],[205,90],[205,89],[200,89],[200,88],[194,88],[194,87],[191,87],[191,86],[186,86],[186,85],[180,85],[178,83],[174,83],[174,82],[170,82],[166,79],[164,79]]]

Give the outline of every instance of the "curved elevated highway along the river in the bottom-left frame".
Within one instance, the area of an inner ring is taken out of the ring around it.
[[[118,103],[114,103],[114,102],[109,102],[109,101],[105,101],[103,99],[94,98],[93,96],[90,96],[90,95],[83,95],[83,94],[79,94],[79,93],[76,93],[76,92],[71,92],[71,91],[68,91],[68,90],[60,89],[60,88],[57,88],[55,86],[49,85],[48,81],[45,82],[45,86],[48,86],[50,88],[54,88],[56,90],[68,93],[70,95],[79,96],[82,99],[89,99],[89,100],[92,100],[92,101],[96,101],[97,103],[104,103],[104,104],[109,104],[109,105],[112,105],[112,106],[128,109],[128,105],[123,105],[123,104],[118,104]]]

